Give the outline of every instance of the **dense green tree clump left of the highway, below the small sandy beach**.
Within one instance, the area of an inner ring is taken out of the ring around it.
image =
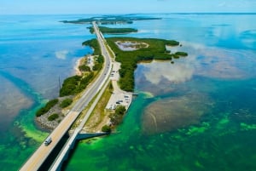
[[[79,94],[87,87],[90,81],[93,79],[94,73],[90,72],[87,76],[73,76],[68,77],[64,83],[62,83],[62,87],[60,90],[60,96],[67,96],[73,94]]]

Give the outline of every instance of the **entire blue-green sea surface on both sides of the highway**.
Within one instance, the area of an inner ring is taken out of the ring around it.
[[[0,16],[0,168],[17,170],[48,133],[34,112],[91,52],[90,15]],[[118,134],[81,141],[65,170],[256,170],[255,14],[147,14],[129,37],[175,39],[188,57],[138,64]],[[115,27],[115,26],[110,26]],[[106,37],[113,37],[107,35]]]

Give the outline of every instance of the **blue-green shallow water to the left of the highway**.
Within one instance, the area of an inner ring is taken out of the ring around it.
[[[17,170],[48,133],[34,113],[58,96],[58,79],[74,74],[82,42],[94,37],[86,26],[65,25],[80,15],[0,16],[0,168]]]

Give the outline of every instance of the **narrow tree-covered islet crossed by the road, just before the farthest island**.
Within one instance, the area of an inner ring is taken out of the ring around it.
[[[94,28],[92,26],[88,27],[90,30],[90,33],[94,32]],[[107,33],[107,34],[124,34],[124,33],[130,33],[130,32],[137,32],[137,29],[133,28],[109,28],[106,26],[99,26],[100,31],[102,33]]]

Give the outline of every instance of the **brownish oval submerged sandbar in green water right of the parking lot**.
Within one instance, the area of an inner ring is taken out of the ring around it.
[[[202,103],[204,101],[204,103]],[[158,100],[145,109],[142,123],[144,134],[175,131],[200,122],[209,111],[210,100],[204,94]]]

